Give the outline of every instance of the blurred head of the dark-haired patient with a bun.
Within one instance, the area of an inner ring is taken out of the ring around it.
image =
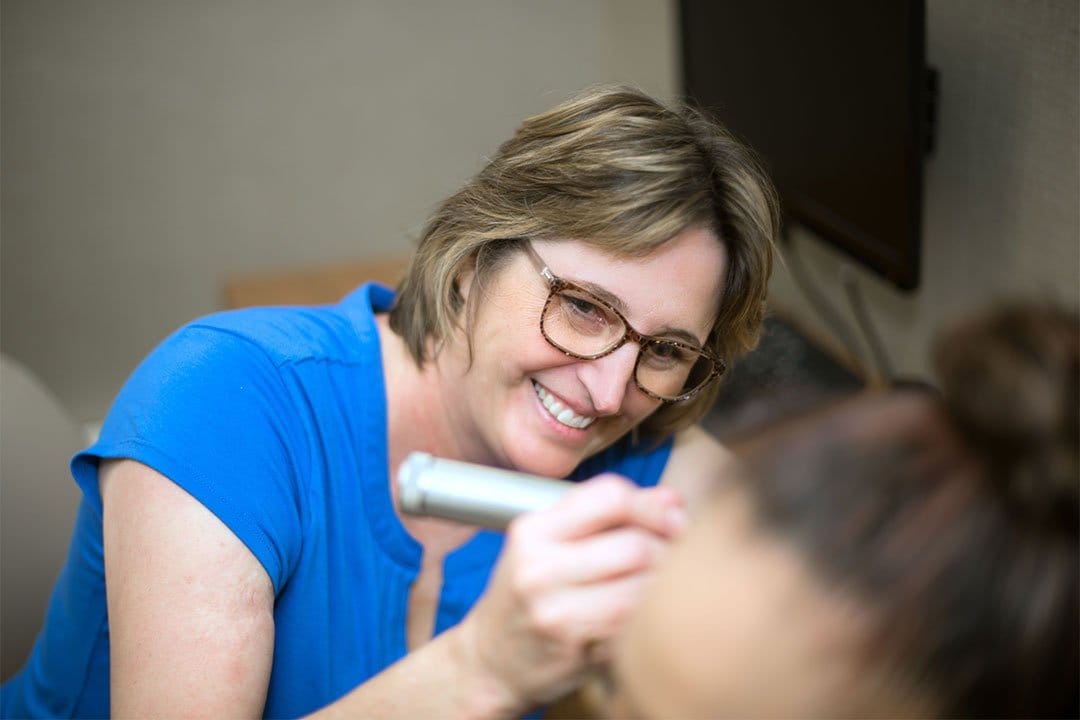
[[[639,717],[1075,716],[1078,321],[999,309],[895,390],[774,425],[618,648]]]

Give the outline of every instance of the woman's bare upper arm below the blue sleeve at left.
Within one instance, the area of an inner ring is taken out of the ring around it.
[[[273,586],[213,513],[157,471],[103,461],[110,693],[118,717],[259,717]]]

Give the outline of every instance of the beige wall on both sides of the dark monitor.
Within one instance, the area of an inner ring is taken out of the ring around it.
[[[852,270],[896,367],[1005,291],[1078,301],[1075,0],[929,0],[923,281]],[[237,272],[407,248],[523,116],[677,94],[669,0],[3,0],[0,340],[83,420]],[[849,261],[800,236],[840,300]],[[820,325],[781,269],[779,304]]]

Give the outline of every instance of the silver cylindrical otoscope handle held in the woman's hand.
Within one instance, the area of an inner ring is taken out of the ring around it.
[[[554,505],[572,487],[568,480],[410,452],[397,471],[397,507],[505,530],[517,515]]]

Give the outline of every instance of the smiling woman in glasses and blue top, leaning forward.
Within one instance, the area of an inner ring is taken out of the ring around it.
[[[597,87],[436,209],[396,294],[181,328],[72,463],[76,552],[2,715],[500,718],[572,690],[724,457],[694,423],[756,341],[778,222],[721,127]],[[503,536],[400,517],[413,451],[582,481]]]

